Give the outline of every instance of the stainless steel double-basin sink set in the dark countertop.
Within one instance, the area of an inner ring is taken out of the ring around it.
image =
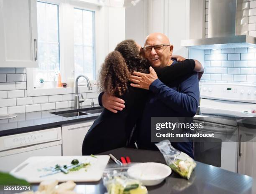
[[[102,107],[92,107],[92,108],[82,108],[82,109],[76,109],[76,110],[52,112],[51,114],[55,114],[63,117],[72,117],[72,116],[82,116],[82,115],[101,113],[102,111],[103,111]]]

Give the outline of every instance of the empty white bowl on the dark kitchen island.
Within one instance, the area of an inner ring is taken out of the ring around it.
[[[146,162],[131,166],[127,173],[133,179],[141,181],[145,186],[153,186],[160,184],[172,173],[172,170],[165,164]]]

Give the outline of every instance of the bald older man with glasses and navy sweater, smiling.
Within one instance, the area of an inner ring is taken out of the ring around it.
[[[172,59],[173,45],[170,44],[169,38],[164,34],[152,33],[148,35],[143,50],[145,57],[154,68],[163,68],[177,63],[176,60]],[[179,60],[184,60],[182,57],[179,58],[181,58]],[[156,150],[154,142],[151,142],[151,117],[195,116],[199,104],[197,73],[191,73],[167,85],[154,77],[154,73],[134,72],[134,76],[131,78],[133,81],[131,86],[151,91],[149,98],[145,99],[147,101],[146,106],[142,118],[136,126],[138,148]],[[106,93],[99,96],[99,102],[113,112],[125,108],[125,102],[122,99]],[[192,142],[172,142],[172,145],[189,156],[194,156]]]

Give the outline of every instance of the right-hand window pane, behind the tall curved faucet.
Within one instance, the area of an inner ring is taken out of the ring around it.
[[[94,12],[74,9],[75,76],[84,74],[95,79]]]

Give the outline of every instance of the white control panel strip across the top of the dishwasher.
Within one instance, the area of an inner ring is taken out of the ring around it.
[[[0,137],[0,151],[49,141],[61,140],[61,128],[44,129]]]

